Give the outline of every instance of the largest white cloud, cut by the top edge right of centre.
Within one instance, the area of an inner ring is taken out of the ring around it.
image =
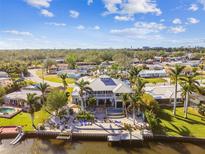
[[[135,15],[138,13],[154,13],[160,15],[162,12],[157,7],[155,0],[103,0],[107,12],[105,14]]]

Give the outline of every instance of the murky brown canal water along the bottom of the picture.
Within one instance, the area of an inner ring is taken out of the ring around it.
[[[147,143],[136,145],[110,145],[108,142],[27,139],[18,145],[2,140],[0,154],[205,154],[205,144]]]

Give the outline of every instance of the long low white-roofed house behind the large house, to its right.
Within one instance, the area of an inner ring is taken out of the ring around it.
[[[155,78],[155,77],[166,77],[167,73],[163,70],[142,70],[139,73],[140,77],[143,78]]]

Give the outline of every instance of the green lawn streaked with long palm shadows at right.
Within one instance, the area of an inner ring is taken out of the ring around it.
[[[189,108],[188,119],[184,118],[183,108],[177,108],[176,117],[171,109],[162,109],[159,117],[161,124],[155,131],[157,134],[205,137],[205,118],[196,109]]]

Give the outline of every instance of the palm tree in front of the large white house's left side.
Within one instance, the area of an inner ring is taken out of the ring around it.
[[[84,81],[83,79],[76,82],[75,84],[80,88],[79,95],[80,95],[80,99],[81,99],[81,110],[84,111],[84,98],[83,98],[83,95],[86,92],[91,93],[92,89],[90,87],[88,87],[89,82]]]

